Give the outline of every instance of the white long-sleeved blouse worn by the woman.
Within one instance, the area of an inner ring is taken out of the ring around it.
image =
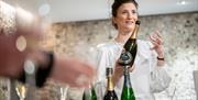
[[[152,51],[151,47],[151,42],[138,40],[138,54],[134,62],[135,68],[130,73],[131,85],[136,100],[154,100],[153,92],[164,90],[170,82],[170,77],[166,73],[165,66],[157,67],[157,54],[155,51]],[[122,48],[123,44],[116,41],[98,46],[98,84],[106,85],[106,67],[114,67]],[[123,77],[114,88],[119,100],[122,87]],[[105,87],[97,87],[96,91],[101,93],[101,88]],[[102,100],[101,96],[99,97],[99,100]]]

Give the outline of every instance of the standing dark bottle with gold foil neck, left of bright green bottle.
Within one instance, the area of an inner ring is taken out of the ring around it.
[[[103,97],[103,100],[118,100],[117,93],[114,91],[114,86],[113,86],[113,81],[112,81],[112,68],[107,68],[106,69],[106,74],[107,74],[107,90],[106,90],[106,95]]]

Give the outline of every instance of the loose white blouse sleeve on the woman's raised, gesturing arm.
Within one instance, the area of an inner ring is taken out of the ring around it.
[[[150,77],[150,87],[152,92],[161,92],[165,90],[170,82],[170,76],[167,73],[167,65],[157,66],[157,54],[154,51],[151,51],[150,67],[151,67],[151,77]]]

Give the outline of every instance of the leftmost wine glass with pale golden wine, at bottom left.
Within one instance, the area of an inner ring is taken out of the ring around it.
[[[15,82],[15,91],[20,100],[24,100],[28,92],[28,85],[21,84],[19,81]]]

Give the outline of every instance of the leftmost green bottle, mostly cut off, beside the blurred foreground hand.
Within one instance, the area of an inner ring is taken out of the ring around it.
[[[82,100],[97,100],[97,95],[92,85],[84,90]]]

